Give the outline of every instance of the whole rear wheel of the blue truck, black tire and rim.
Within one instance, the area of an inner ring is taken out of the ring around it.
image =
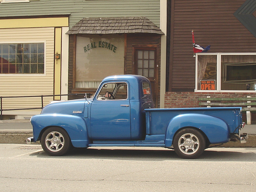
[[[173,147],[181,158],[194,159],[204,152],[206,141],[200,131],[194,128],[185,128],[174,137]]]

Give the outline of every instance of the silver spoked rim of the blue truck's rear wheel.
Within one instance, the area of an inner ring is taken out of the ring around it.
[[[195,134],[185,133],[178,140],[180,151],[186,155],[192,155],[199,149],[199,139]]]

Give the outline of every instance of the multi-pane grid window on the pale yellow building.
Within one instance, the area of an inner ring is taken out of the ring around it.
[[[0,44],[0,74],[44,74],[44,43]]]

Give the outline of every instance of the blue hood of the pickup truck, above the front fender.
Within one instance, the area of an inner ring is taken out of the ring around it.
[[[76,116],[82,116],[84,114],[84,105],[88,106],[88,102],[91,102],[92,99],[76,99],[55,102],[46,105],[41,114],[70,114]]]

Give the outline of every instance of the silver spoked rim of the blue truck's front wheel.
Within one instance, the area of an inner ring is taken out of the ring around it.
[[[64,147],[64,136],[58,131],[48,133],[45,138],[45,144],[48,150],[58,152]]]

